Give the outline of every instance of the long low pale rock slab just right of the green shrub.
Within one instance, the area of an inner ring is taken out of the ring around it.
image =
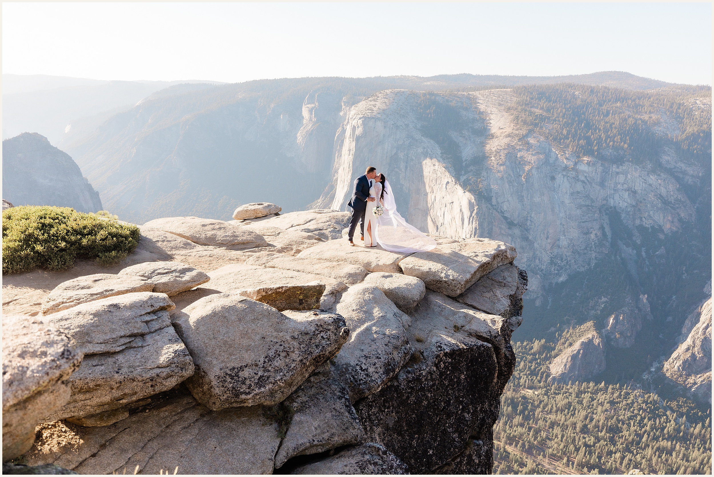
[[[221,220],[198,217],[166,217],[144,224],[174,234],[199,245],[229,247],[233,250],[268,246],[263,236]]]

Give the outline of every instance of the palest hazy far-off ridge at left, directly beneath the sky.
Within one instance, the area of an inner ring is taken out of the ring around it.
[[[3,74],[3,139],[37,131],[64,146],[155,91],[191,81],[99,81]],[[196,81],[193,81],[195,83]],[[205,82],[204,82],[205,83]],[[208,81],[209,84],[217,84]],[[74,129],[74,131],[73,131]]]

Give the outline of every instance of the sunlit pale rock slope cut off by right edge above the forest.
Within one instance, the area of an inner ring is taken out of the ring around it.
[[[698,399],[711,403],[712,299],[702,303],[692,313],[695,314],[699,315],[698,322],[691,328],[687,339],[665,361],[663,372],[688,388]],[[688,324],[685,323],[684,327],[688,328]]]

